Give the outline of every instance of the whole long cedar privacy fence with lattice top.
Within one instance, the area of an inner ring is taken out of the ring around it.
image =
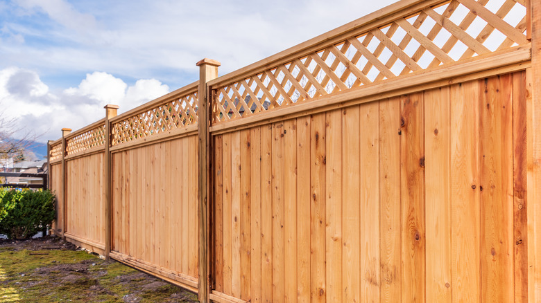
[[[541,4],[403,0],[49,143],[53,228],[202,302],[541,300]]]

